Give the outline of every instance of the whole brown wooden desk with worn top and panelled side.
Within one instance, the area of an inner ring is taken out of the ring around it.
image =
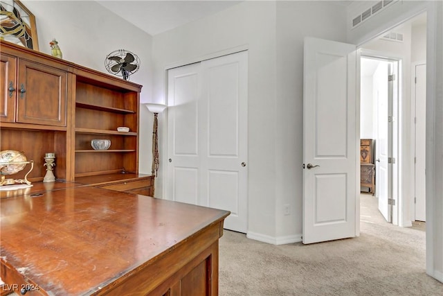
[[[228,211],[90,186],[0,202],[3,288],[218,294],[218,239]]]

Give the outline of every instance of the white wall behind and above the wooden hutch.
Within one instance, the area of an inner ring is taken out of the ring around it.
[[[116,49],[136,53],[141,68],[130,77],[143,85],[141,102],[152,99],[152,37],[95,1],[21,1],[35,15],[39,51],[51,54],[57,39],[63,59],[109,73],[106,56]],[[142,106],[143,107],[143,106]],[[146,109],[145,107],[143,107]],[[139,171],[151,172],[152,119],[141,108]],[[148,137],[143,137],[146,134]]]

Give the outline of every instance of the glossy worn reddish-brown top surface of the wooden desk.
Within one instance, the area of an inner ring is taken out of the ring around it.
[[[91,187],[1,199],[1,260],[54,295],[99,290],[228,211]]]

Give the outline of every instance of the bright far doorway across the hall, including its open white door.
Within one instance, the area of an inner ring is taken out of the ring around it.
[[[361,56],[361,143],[370,141],[370,157],[363,168],[371,166],[371,192],[378,199],[378,208],[386,221],[392,223],[394,193],[398,184],[397,106],[399,101],[399,60],[375,55]],[[363,140],[364,139],[364,140]],[[366,150],[361,148],[361,151]],[[361,180],[365,178],[363,171]],[[367,184],[365,181],[362,184]],[[362,186],[364,187],[364,186]],[[361,188],[364,192],[365,188]]]

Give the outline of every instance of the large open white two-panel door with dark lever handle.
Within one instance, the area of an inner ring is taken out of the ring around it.
[[[305,38],[303,243],[358,235],[356,60],[352,44]]]

